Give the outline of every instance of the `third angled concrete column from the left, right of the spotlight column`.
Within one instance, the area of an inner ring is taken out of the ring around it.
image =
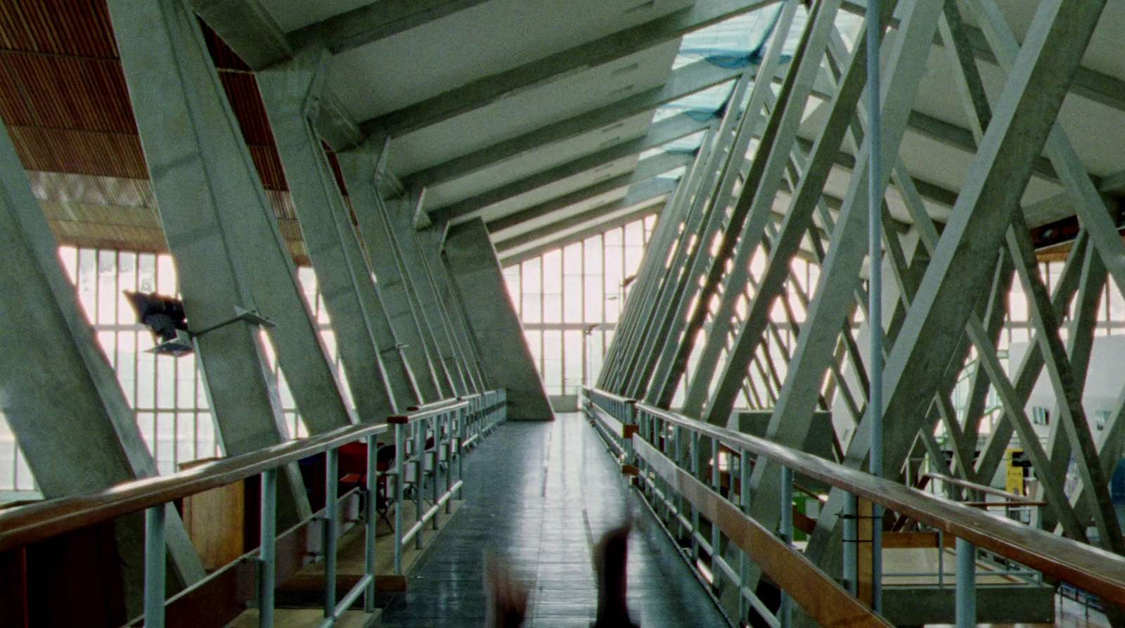
[[[417,397],[348,208],[309,123],[323,92],[323,59],[300,54],[259,72],[258,84],[356,410],[361,421],[382,422],[416,404]]]

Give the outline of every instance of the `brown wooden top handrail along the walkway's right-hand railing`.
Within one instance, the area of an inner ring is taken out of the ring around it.
[[[902,484],[875,477],[818,456],[765,439],[687,419],[638,403],[637,409],[670,423],[716,438],[732,449],[745,449],[793,470],[843,488],[865,500],[906,514],[945,533],[963,538],[1090,591],[1115,604],[1125,604],[1125,557],[1097,547],[1030,528]]]

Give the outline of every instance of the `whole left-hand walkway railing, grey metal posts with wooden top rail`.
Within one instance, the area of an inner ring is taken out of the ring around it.
[[[316,519],[323,520],[322,526],[322,551],[324,557],[324,620],[320,622],[321,628],[334,626],[341,613],[351,604],[364,595],[364,609],[374,611],[375,598],[375,528],[376,528],[376,447],[377,436],[394,428],[396,440],[396,469],[395,473],[382,475],[393,476],[396,486],[396,517],[395,517],[395,573],[400,575],[403,544],[415,538],[421,545],[422,527],[433,521],[436,527],[435,515],[441,506],[446,506],[446,512],[450,512],[450,500],[464,484],[461,481],[462,460],[461,456],[466,433],[471,429],[474,438],[487,434],[500,422],[505,419],[502,409],[506,400],[505,392],[487,391],[469,397],[448,400],[443,403],[428,404],[422,410],[405,415],[388,418],[387,424],[363,424],[350,425],[316,434],[303,440],[296,440],[277,445],[245,454],[208,463],[182,470],[177,474],[137,479],[126,482],[105,491],[88,495],[76,495],[40,502],[27,506],[16,508],[6,512],[0,512],[0,553],[22,547],[39,540],[44,540],[57,535],[62,535],[79,528],[84,528],[133,512],[145,511],[145,568],[144,568],[144,621],[145,626],[163,628],[165,605],[165,504],[173,500],[188,497],[190,495],[216,488],[226,484],[246,479],[254,475],[261,476],[261,546],[255,550],[259,563],[256,569],[258,580],[258,607],[259,625],[262,628],[273,626],[273,590],[276,586],[277,565],[277,540],[276,536],[276,512],[277,512],[277,486],[278,470],[280,467],[296,463],[303,458],[325,455],[325,506],[323,515],[320,513]],[[477,403],[480,402],[480,403]],[[471,423],[471,428],[469,425]],[[457,436],[453,434],[453,425],[457,425]],[[450,467],[446,469],[446,491],[439,496],[439,458],[434,451],[434,466],[432,476],[433,506],[426,512],[422,511],[422,481],[424,474],[423,456],[428,428],[433,428],[435,449],[441,448],[444,460]],[[415,492],[417,503],[417,521],[412,530],[404,535],[404,521],[402,518],[403,504],[403,439],[407,430],[413,429],[418,445],[412,459],[418,464],[418,473],[415,476]],[[342,445],[366,440],[367,445],[367,483],[364,491],[364,512],[362,521],[364,526],[364,567],[363,575],[354,586],[352,586],[342,598],[336,598],[336,548],[339,539],[340,513],[339,499],[336,499],[336,483],[339,469],[339,448]],[[454,445],[456,443],[456,445]],[[452,482],[452,463],[457,460],[458,479]],[[219,569],[215,574],[204,578],[208,582],[222,573]]]

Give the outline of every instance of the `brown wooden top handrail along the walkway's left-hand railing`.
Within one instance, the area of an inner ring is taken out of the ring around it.
[[[440,407],[424,409],[404,418],[407,422],[413,422],[468,405],[468,401],[449,400]],[[135,479],[97,493],[58,497],[6,510],[0,512],[0,553],[238,482],[341,445],[386,432],[387,429],[388,425],[382,423],[348,425],[171,475]]]

